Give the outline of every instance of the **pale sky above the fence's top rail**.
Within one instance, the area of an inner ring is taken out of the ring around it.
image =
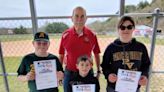
[[[145,0],[125,0],[137,5]],[[152,0],[147,0],[151,2]],[[70,16],[76,6],[83,6],[88,15],[115,14],[120,0],[35,0],[37,16]],[[0,17],[30,16],[29,0],[0,0]]]

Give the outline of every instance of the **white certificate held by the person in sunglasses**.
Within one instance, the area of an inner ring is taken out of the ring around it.
[[[115,91],[136,92],[141,72],[119,69]]]

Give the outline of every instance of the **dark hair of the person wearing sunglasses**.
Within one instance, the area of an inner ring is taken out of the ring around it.
[[[117,28],[119,29],[120,26],[122,26],[122,24],[125,22],[125,21],[130,21],[133,25],[133,27],[135,28],[135,23],[134,23],[134,19],[130,16],[122,16],[118,22],[118,25],[117,25]]]

